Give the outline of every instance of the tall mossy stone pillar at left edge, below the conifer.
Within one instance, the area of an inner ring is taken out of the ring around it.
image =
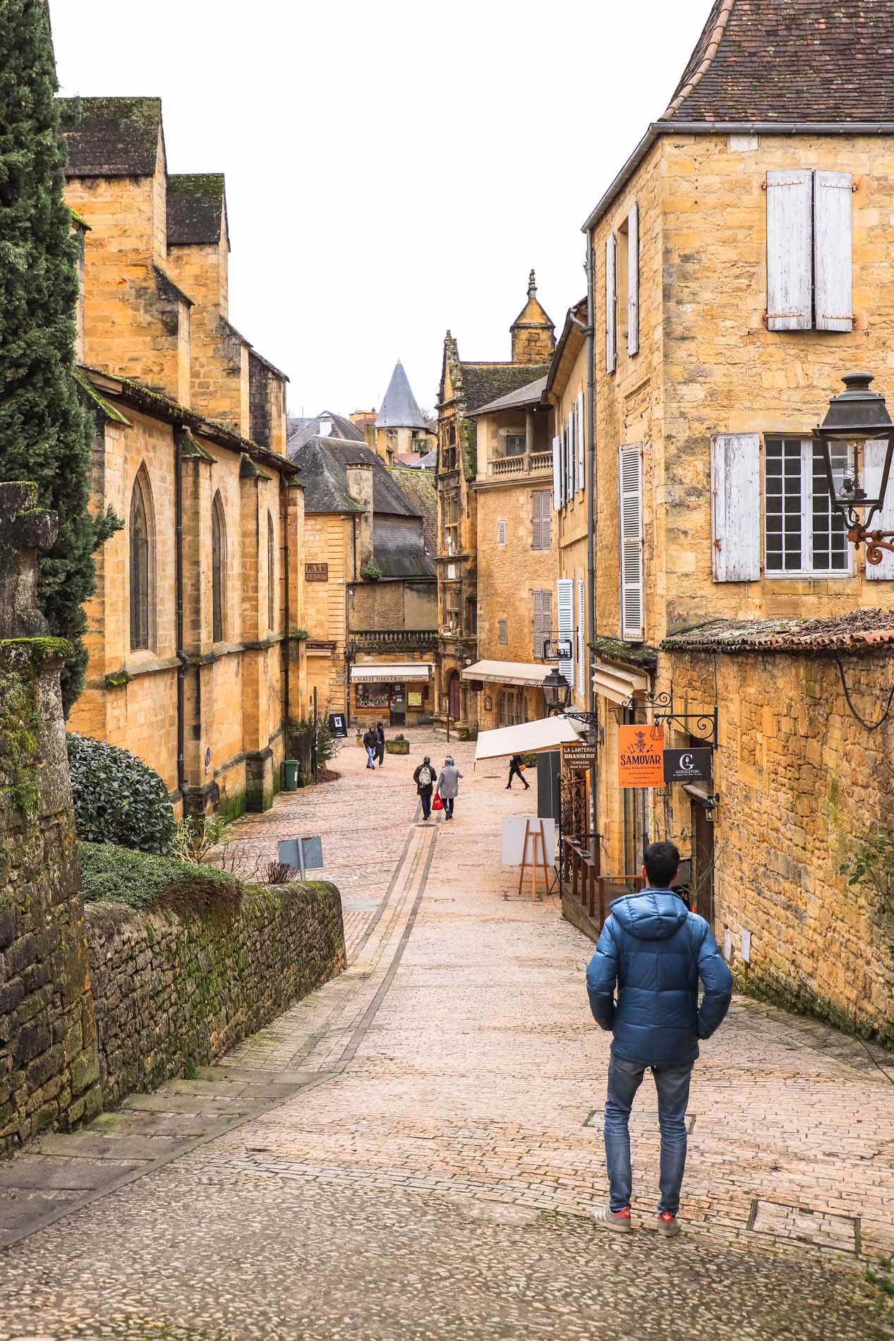
[[[102,1108],[59,669],[35,609],[56,535],[0,484],[0,1155]]]

